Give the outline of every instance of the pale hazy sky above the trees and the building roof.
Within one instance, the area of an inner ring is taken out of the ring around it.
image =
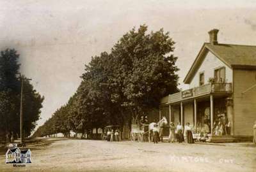
[[[45,96],[42,125],[76,92],[84,64],[132,27],[170,32],[186,89],[182,81],[211,29],[220,30],[219,43],[256,45],[255,10],[256,1],[235,0],[1,0],[0,50],[18,51],[22,74]]]

